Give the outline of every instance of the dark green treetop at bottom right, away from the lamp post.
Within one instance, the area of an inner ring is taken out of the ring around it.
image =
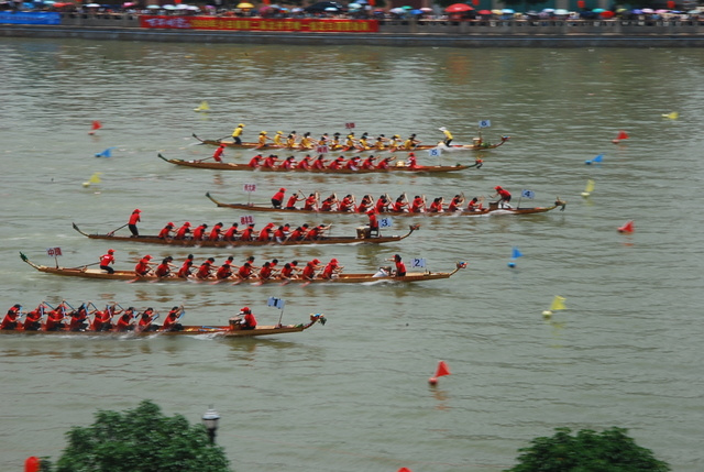
[[[610,428],[601,433],[590,429],[570,436],[569,428],[556,428],[550,438],[536,438],[519,449],[518,465],[506,472],[667,472],[670,466],[626,436],[628,430]]]

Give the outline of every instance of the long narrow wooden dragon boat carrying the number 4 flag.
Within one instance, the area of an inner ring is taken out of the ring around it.
[[[361,213],[355,211],[320,211],[320,210],[304,210],[304,209],[295,209],[289,210],[285,208],[274,208],[274,207],[265,207],[253,204],[224,204],[218,199],[216,199],[210,193],[206,194],[206,197],[210,199],[218,207],[222,208],[234,208],[237,210],[246,210],[246,211],[283,211],[287,213],[322,213],[322,215],[356,215]],[[560,211],[564,211],[564,207],[566,202],[561,199],[556,199],[554,204],[549,207],[517,207],[517,208],[505,208],[499,207],[498,204],[491,202],[488,208],[483,208],[481,210],[470,211],[463,209],[461,211],[442,211],[442,212],[409,212],[409,211],[385,211],[380,213],[380,216],[389,216],[389,217],[481,217],[483,215],[531,215],[531,213],[544,213],[546,211],[554,210],[556,208],[560,208]]]

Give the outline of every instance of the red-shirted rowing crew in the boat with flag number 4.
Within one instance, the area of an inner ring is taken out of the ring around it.
[[[496,194],[491,198],[498,197],[498,202],[508,205],[510,201],[510,193],[501,186],[494,187]],[[283,202],[286,200],[286,205]],[[297,207],[296,204],[304,202],[302,207]],[[358,204],[356,198],[352,194],[348,194],[342,199],[339,199],[337,194],[332,194],[324,199],[320,199],[318,193],[314,193],[305,197],[301,193],[294,193],[288,199],[286,199],[286,188],[282,187],[276,194],[272,196],[272,207],[285,210],[298,210],[306,211],[342,211],[351,213],[375,213],[384,212],[410,212],[410,213],[441,213],[453,211],[481,211],[484,209],[484,197],[474,197],[468,204],[465,204],[464,194],[458,194],[448,204],[443,197],[438,197],[428,204],[426,196],[416,195],[410,200],[406,194],[402,194],[398,198],[393,200],[388,194],[384,194],[376,200],[371,195],[365,195]],[[447,207],[446,207],[447,205]]]

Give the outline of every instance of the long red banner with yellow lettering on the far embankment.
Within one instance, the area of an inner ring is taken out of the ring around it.
[[[376,33],[376,20],[267,19],[141,15],[141,28],[176,30],[286,31],[310,33]]]

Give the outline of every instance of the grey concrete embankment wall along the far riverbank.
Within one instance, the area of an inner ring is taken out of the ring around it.
[[[0,24],[0,36],[102,41],[435,47],[703,47],[698,21],[385,21],[378,33],[139,28],[135,14],[65,14],[61,25]]]

